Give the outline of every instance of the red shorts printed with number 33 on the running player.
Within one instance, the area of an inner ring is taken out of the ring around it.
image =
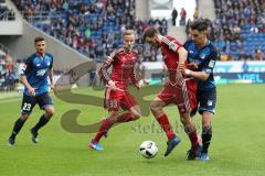
[[[106,108],[108,111],[118,111],[119,108],[123,108],[124,110],[129,110],[136,105],[137,101],[135,100],[135,97],[131,96],[128,90],[114,91],[109,88],[106,88],[104,108]]]

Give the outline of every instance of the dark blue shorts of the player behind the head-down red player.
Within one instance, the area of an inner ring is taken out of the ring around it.
[[[197,101],[199,105],[199,113],[208,111],[211,113],[215,113],[215,105],[216,105],[216,88],[206,89],[206,90],[198,90],[197,91]]]

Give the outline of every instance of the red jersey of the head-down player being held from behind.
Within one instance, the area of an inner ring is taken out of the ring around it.
[[[163,54],[163,62],[168,67],[170,81],[176,81],[176,72],[179,64],[178,50],[180,47],[182,47],[182,45],[176,38],[168,35],[162,36],[161,51]]]

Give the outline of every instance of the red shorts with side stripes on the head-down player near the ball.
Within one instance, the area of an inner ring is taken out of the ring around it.
[[[158,98],[166,105],[177,105],[180,113],[192,112],[197,108],[195,92],[197,81],[194,79],[187,79],[181,85],[167,82],[159,92]]]

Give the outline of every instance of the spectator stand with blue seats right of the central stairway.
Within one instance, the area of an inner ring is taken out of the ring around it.
[[[264,61],[265,1],[214,0],[210,38],[222,61]],[[189,23],[188,23],[189,25]]]

